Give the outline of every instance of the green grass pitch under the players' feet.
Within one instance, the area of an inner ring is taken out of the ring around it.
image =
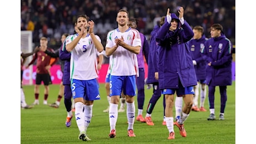
[[[23,86],[27,104],[32,104],[34,86]],[[50,85],[48,104],[56,101],[59,85]],[[88,127],[87,134],[92,141],[88,143],[235,143],[235,81],[228,86],[228,100],[225,108],[225,120],[220,121],[220,95],[219,87],[215,91],[216,120],[208,121],[209,116],[208,96],[205,100],[207,112],[190,112],[185,121],[187,137],[181,137],[178,127],[174,126],[175,139],[168,140],[169,132],[163,122],[163,95],[157,101],[152,112],[154,126],[148,126],[135,120],[134,132],[136,137],[127,137],[126,112],[119,113],[116,124],[116,138],[109,138],[109,114],[102,112],[107,107],[106,91],[104,84],[100,84],[101,100],[93,105],[93,117]],[[147,104],[152,96],[152,89],[145,87],[145,102],[143,116],[146,115]],[[135,99],[137,99],[135,97]],[[40,86],[40,105],[33,109],[21,109],[21,143],[85,143],[78,140],[78,128],[75,115],[71,127],[65,126],[67,112],[63,102],[58,109],[43,105],[43,85]],[[137,100],[135,100],[137,116]],[[174,112],[175,114],[175,112]]]

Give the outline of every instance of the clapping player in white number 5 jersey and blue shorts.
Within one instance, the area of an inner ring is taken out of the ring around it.
[[[78,33],[66,39],[66,50],[71,52],[70,79],[76,124],[80,131],[78,139],[82,141],[90,140],[86,131],[91,122],[93,100],[100,100],[96,55],[104,47],[100,37],[93,33],[93,27],[92,20],[80,15],[77,17]]]

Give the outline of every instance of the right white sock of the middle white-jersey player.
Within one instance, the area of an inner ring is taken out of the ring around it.
[[[135,120],[135,104],[134,102],[128,103],[126,102],[127,110],[126,110],[126,115],[127,115],[127,120],[128,120],[128,130],[134,129],[134,120]]]

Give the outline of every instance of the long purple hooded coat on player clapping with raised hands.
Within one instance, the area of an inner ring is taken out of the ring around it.
[[[191,58],[188,41],[194,33],[190,25],[184,20],[180,27],[180,20],[171,13],[172,19],[178,19],[178,28],[172,32],[166,18],[165,23],[156,33],[159,44],[159,89],[178,89],[179,80],[184,87],[197,84],[195,69]]]

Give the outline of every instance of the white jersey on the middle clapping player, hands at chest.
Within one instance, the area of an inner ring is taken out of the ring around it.
[[[121,33],[120,30],[114,29],[107,34],[106,48],[112,48],[115,43],[116,38],[124,38],[126,44],[131,45],[132,47],[140,46],[141,39],[140,33],[136,29],[129,28],[124,33]],[[112,63],[111,63],[111,75],[116,76],[129,76],[137,75],[139,76],[139,68],[137,63],[137,56],[135,53],[130,52],[129,50],[119,46],[116,51],[112,54]]]

